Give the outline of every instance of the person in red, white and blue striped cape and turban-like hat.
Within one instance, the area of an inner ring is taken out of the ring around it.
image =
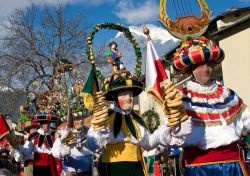
[[[237,141],[250,131],[250,109],[234,92],[212,79],[224,52],[205,37],[182,42],[174,67],[192,75],[181,88],[192,133],[183,144],[185,175],[247,175]]]

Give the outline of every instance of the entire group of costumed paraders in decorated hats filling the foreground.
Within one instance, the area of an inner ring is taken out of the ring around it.
[[[250,109],[213,79],[214,66],[225,57],[219,46],[200,37],[176,49],[174,68],[192,79],[161,87],[165,117],[152,132],[133,110],[144,84],[125,69],[117,49],[111,50],[117,44],[109,46],[115,68],[104,80],[105,91],[93,96],[87,130],[84,123],[61,121],[42,98],[22,130],[1,114],[2,175],[248,175]]]

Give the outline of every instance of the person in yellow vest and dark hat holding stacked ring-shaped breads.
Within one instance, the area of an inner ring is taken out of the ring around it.
[[[191,124],[179,121],[185,132],[167,127],[167,119],[150,134],[145,122],[134,112],[134,97],[143,90],[143,83],[128,71],[114,73],[104,81],[106,92],[94,97],[92,126],[88,131],[89,148],[101,150],[100,175],[147,175],[142,148],[151,150],[158,145],[182,144],[191,131]],[[104,100],[112,101],[110,108]],[[186,126],[186,124],[189,124]]]

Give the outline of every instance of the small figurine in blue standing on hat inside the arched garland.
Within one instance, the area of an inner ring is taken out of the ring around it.
[[[124,70],[125,67],[121,62],[122,53],[118,50],[118,45],[115,41],[109,43],[109,50],[106,52],[106,58],[112,64],[112,73],[117,70]]]

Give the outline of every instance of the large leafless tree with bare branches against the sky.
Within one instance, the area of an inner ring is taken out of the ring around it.
[[[2,29],[5,35],[1,38],[1,86],[23,93],[20,90],[25,89],[34,77],[52,75],[54,78],[60,60],[68,60],[79,71],[86,72],[88,25],[83,15],[70,15],[68,5],[43,4],[38,7],[32,4],[26,9],[16,9],[6,18]],[[43,84],[48,90],[55,85],[53,79]]]

